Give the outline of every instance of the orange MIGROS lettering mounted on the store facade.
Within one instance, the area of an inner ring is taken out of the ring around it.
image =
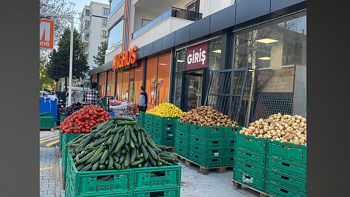
[[[137,46],[132,46],[129,50],[125,50],[113,57],[113,70],[117,70],[131,64],[136,63],[137,55]]]

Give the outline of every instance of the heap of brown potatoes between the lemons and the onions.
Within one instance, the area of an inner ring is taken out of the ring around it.
[[[237,122],[209,106],[193,109],[178,120],[200,126],[239,126]]]

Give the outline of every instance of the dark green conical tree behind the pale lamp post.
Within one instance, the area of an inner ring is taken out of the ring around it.
[[[69,55],[70,55],[71,30],[67,28],[62,38],[58,41],[58,50],[52,50],[49,55],[50,64],[47,67],[47,75],[51,79],[65,79],[67,91],[67,78],[69,77]],[[74,79],[81,79],[88,72],[88,60],[85,55],[85,47],[82,36],[76,29],[73,32],[73,72]]]

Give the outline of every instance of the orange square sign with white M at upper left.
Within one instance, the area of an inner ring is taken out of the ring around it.
[[[53,49],[54,21],[40,19],[40,48]]]

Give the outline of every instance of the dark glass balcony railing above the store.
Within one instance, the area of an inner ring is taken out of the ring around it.
[[[175,18],[185,19],[189,21],[197,21],[202,19],[202,15],[203,14],[199,12],[188,11],[177,7],[171,7],[165,12],[163,12],[161,15],[157,16],[155,19],[151,20],[145,26],[141,27],[140,29],[132,33],[131,39],[134,39],[139,35],[145,33],[146,31],[148,31],[149,29],[151,29],[152,27],[156,26],[157,24],[161,23],[162,21],[166,20],[169,17],[175,17]]]

